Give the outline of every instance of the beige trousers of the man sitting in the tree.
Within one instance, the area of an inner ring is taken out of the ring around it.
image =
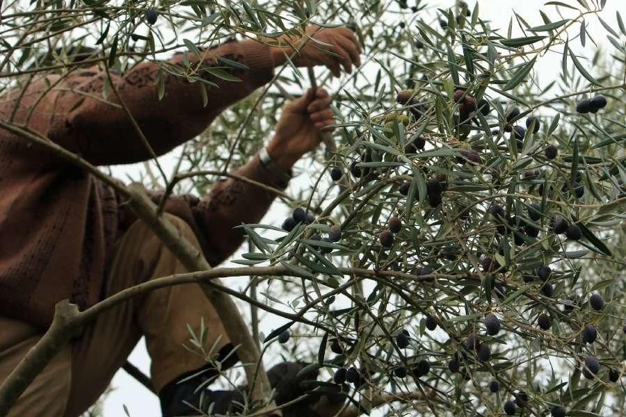
[[[180,233],[200,247],[186,222],[167,215]],[[187,272],[143,222],[135,222],[118,243],[107,281],[106,295],[148,279]],[[17,400],[9,416],[77,417],[109,386],[141,336],[152,359],[151,378],[160,391],[179,375],[207,361],[189,352],[189,325],[198,332],[200,320],[208,326],[207,349],[228,343],[216,311],[198,284],[159,288],[118,304],[87,325],[78,338],[38,375]],[[0,380],[6,378],[24,354],[42,336],[41,330],[0,316]]]

